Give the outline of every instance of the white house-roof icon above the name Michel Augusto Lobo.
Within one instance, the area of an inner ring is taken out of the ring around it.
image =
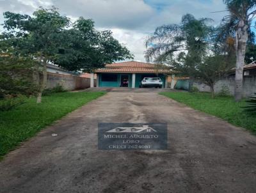
[[[148,125],[143,125],[142,127],[116,127],[108,130],[109,133],[140,133],[140,132],[157,132],[152,127]]]

